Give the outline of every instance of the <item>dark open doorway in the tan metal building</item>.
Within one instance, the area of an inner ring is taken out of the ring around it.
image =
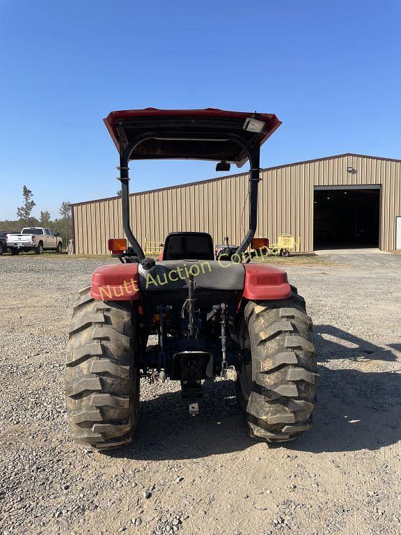
[[[379,247],[380,189],[315,189],[314,249]]]

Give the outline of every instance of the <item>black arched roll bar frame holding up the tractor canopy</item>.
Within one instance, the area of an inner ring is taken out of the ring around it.
[[[119,153],[120,153],[120,182],[121,182],[121,202],[123,208],[123,229],[127,236],[129,245],[138,256],[141,261],[145,258],[145,254],[132,233],[131,224],[129,221],[129,158],[132,152],[143,141],[149,139],[165,140],[165,141],[216,141],[221,143],[224,141],[235,141],[235,143],[241,146],[248,155],[249,164],[251,169],[249,170],[249,230],[242,240],[239,247],[237,247],[237,253],[243,253],[249,245],[255,235],[256,226],[258,224],[258,183],[260,180],[260,146],[252,146],[247,143],[242,137],[236,134],[223,134],[219,136],[215,132],[203,132],[201,135],[199,132],[146,132],[134,138],[129,144],[123,144],[120,141]]]

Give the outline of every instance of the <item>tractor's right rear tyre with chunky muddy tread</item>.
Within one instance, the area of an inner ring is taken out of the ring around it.
[[[310,428],[318,381],[312,320],[297,288],[285,300],[250,301],[239,341],[245,361],[237,398],[251,436],[294,440]]]

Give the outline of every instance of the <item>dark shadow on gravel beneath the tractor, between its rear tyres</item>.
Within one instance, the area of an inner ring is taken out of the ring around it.
[[[141,460],[196,459],[255,444],[239,412],[233,382],[208,380],[203,395],[197,416],[189,414],[180,391],[141,401],[134,442],[104,454]]]

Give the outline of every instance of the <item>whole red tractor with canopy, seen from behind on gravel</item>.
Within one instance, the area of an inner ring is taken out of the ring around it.
[[[74,307],[65,373],[72,438],[106,450],[132,440],[140,378],[178,380],[196,414],[203,380],[234,380],[251,436],[293,440],[310,428],[318,380],[312,321],[287,274],[244,254],[257,224],[260,146],[273,114],[220,109],[113,111],[104,120],[120,154],[126,240],[109,240],[121,263],[93,272]],[[131,160],[249,161],[249,231],[214,259],[207,233],[167,235],[146,258],[129,217]],[[150,335],[157,343],[150,344]]]

